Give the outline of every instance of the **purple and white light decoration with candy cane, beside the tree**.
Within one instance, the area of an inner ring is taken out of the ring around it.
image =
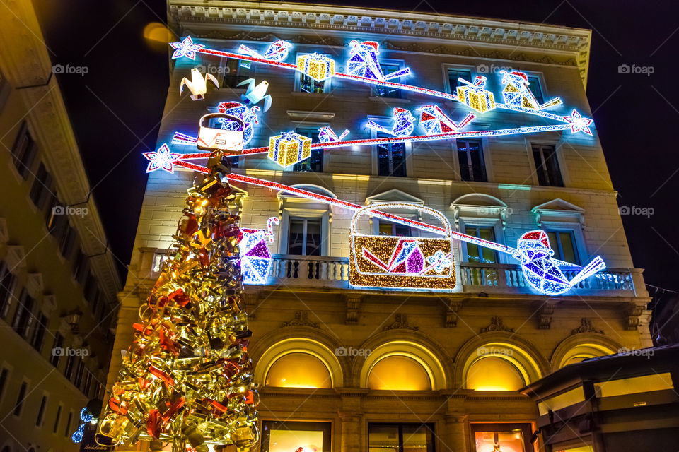
[[[265,284],[269,277],[269,270],[273,258],[267,246],[274,242],[273,225],[278,225],[279,219],[271,217],[267,220],[267,230],[241,228],[243,237],[240,239],[240,273],[244,284]]]

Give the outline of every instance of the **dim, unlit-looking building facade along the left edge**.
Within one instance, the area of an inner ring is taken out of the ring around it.
[[[120,276],[33,4],[3,8],[0,451],[76,451],[80,411],[104,394]]]

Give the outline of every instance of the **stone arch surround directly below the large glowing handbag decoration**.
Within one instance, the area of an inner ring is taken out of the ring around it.
[[[368,387],[368,376],[378,361],[385,357],[410,357],[424,367],[431,388],[448,388],[452,372],[452,359],[441,344],[414,330],[396,329],[382,331],[368,338],[359,350],[371,350],[366,357],[354,357],[352,383],[360,388]]]

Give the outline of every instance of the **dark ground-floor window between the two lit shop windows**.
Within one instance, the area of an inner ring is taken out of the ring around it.
[[[368,452],[434,452],[434,424],[368,424]]]

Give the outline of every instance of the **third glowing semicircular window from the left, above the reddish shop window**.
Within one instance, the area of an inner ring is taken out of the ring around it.
[[[523,386],[521,372],[499,357],[479,359],[467,371],[467,388],[475,391],[518,391]]]

